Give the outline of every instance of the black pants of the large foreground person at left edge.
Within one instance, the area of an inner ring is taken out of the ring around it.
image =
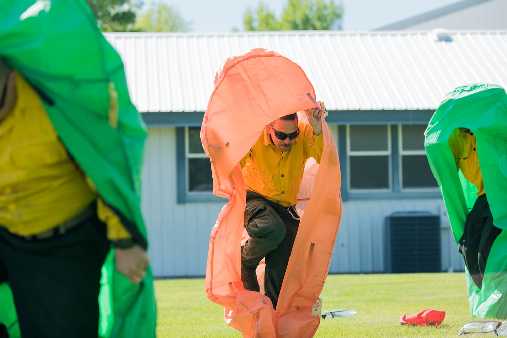
[[[44,240],[27,241],[0,227],[0,283],[10,283],[23,338],[97,337],[109,250],[96,215]]]

